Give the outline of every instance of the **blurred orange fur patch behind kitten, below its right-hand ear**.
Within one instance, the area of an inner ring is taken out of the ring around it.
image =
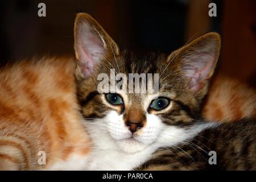
[[[237,121],[256,116],[256,91],[242,81],[223,75],[210,83],[203,106],[209,121]]]

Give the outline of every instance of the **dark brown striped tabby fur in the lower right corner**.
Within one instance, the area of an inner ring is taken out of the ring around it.
[[[255,122],[255,119],[243,119],[221,123],[175,146],[160,148],[136,169],[256,170]]]

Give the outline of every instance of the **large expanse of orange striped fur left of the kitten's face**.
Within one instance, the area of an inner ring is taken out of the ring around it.
[[[0,71],[0,169],[52,169],[85,156],[73,59],[22,61]],[[46,152],[40,165],[39,151]]]

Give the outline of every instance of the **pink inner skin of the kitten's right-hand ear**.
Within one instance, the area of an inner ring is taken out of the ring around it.
[[[200,53],[186,57],[183,67],[185,76],[190,78],[189,89],[197,91],[202,88],[214,69],[214,57]]]

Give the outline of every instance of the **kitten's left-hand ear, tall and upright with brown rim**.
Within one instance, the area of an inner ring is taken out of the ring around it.
[[[74,34],[77,69],[83,78],[90,77],[94,67],[109,53],[119,53],[117,44],[89,14],[77,14]]]

